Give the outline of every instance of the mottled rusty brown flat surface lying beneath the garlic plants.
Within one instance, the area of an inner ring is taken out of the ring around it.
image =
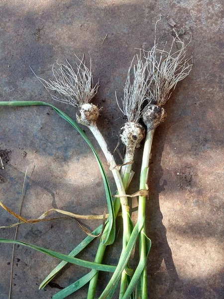
[[[99,127],[110,149],[124,122],[114,93],[122,87],[134,48],[153,45],[154,24],[161,41],[170,42],[169,15],[181,37],[192,42],[194,67],[165,105],[167,120],[156,130],[150,165],[147,233],[152,240],[148,258],[150,299],[224,298],[224,102],[223,12],[221,0],[1,0],[0,100],[41,100],[53,103],[36,80],[51,75],[52,63],[86,54],[100,89],[93,103],[103,107]],[[107,38],[104,40],[104,37]],[[75,119],[76,110],[54,104]],[[105,209],[102,178],[91,150],[77,132],[50,108],[0,108],[0,200],[19,211],[26,167],[21,215],[38,217],[52,207],[80,214]],[[86,129],[85,129],[86,130]],[[96,145],[88,130],[86,133]],[[98,146],[96,145],[99,150]],[[120,147],[122,152],[122,147]],[[107,163],[99,150],[100,156]],[[136,154],[136,180],[141,149]],[[8,156],[8,158],[7,158]],[[9,159],[9,160],[8,160]],[[7,161],[8,160],[8,161]],[[116,156],[117,163],[120,163]],[[107,168],[112,192],[115,186]],[[135,204],[135,201],[134,201]],[[136,205],[136,204],[135,204]],[[55,216],[55,214],[54,214]],[[133,213],[136,219],[136,212]],[[0,210],[0,225],[16,219]],[[118,221],[119,222],[119,221]],[[89,228],[99,222],[86,222]],[[14,238],[15,229],[0,237]],[[119,231],[117,241],[120,241]],[[21,225],[17,239],[69,253],[85,234],[75,221]],[[79,257],[93,261],[98,240]],[[105,263],[117,263],[120,243],[107,251]],[[0,299],[8,298],[12,245],[0,244]],[[134,259],[137,261],[137,249]],[[87,273],[66,267],[44,291],[38,285],[56,259],[15,246],[11,299],[48,299]],[[108,275],[100,275],[97,296]],[[86,298],[87,287],[70,298]]]

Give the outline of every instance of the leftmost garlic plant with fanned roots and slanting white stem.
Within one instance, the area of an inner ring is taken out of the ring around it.
[[[90,70],[87,68],[84,58],[79,60],[79,64],[77,64],[77,71],[74,71],[73,67],[67,61],[67,65],[58,64],[58,70],[55,69],[54,65],[52,67],[54,80],[46,81],[40,77],[37,77],[40,82],[44,85],[47,91],[50,93],[52,99],[56,101],[60,101],[63,103],[70,104],[78,108],[76,118],[77,122],[87,126],[91,132],[93,133],[94,137],[98,141],[102,151],[107,158],[109,167],[112,171],[116,187],[117,193],[119,194],[119,198],[115,198],[113,206],[114,206],[114,214],[117,215],[120,204],[122,208],[122,217],[123,217],[123,249],[125,249],[125,245],[129,239],[131,234],[130,231],[130,216],[129,216],[129,207],[127,202],[127,197],[125,195],[125,188],[127,187],[131,174],[131,168],[129,169],[128,175],[123,175],[123,182],[119,173],[119,167],[116,165],[112,153],[109,151],[108,146],[97,127],[97,119],[99,117],[99,109],[97,106],[90,103],[92,98],[97,93],[97,89],[99,87],[99,83],[93,87],[93,77],[91,68]],[[59,96],[52,94],[52,92],[57,92]],[[125,133],[123,134],[125,136]],[[136,138],[134,143],[132,142],[132,149],[134,149],[139,142],[144,138],[144,130],[141,134],[141,139]],[[128,139],[128,138],[126,138]],[[134,146],[135,144],[135,146]],[[133,155],[133,153],[132,153]],[[128,164],[127,164],[128,165]],[[126,169],[126,168],[125,168]],[[127,172],[124,170],[124,172]],[[120,196],[122,195],[122,196]],[[108,224],[106,225],[105,231],[108,230]],[[103,234],[104,237],[104,234]],[[95,259],[95,263],[101,263],[106,246],[112,244],[114,240],[114,233],[110,240],[107,242],[105,240],[101,240],[101,244]],[[95,293],[96,282],[97,282],[98,273],[94,276],[91,285],[93,286],[90,288],[89,297],[92,298]]]

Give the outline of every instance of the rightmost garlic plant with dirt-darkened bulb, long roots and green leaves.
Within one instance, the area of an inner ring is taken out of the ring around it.
[[[161,106],[164,105],[170,98],[170,95],[176,87],[177,83],[188,76],[192,68],[192,64],[189,63],[189,61],[192,60],[192,57],[185,58],[186,47],[188,44],[185,45],[184,42],[180,40],[175,30],[174,34],[175,37],[173,38],[173,42],[169,51],[166,51],[165,49],[160,50],[157,48],[156,34],[154,46],[151,51],[146,52],[142,50],[146,62],[148,62],[148,74],[150,78],[147,91],[147,100],[149,104],[144,108],[142,112],[142,119],[147,127],[147,133],[143,150],[139,189],[147,190],[148,164],[153,135],[156,127],[159,126],[166,118],[166,112]],[[174,44],[180,46],[180,48],[176,51],[173,50]],[[129,299],[137,284],[138,287],[136,288],[135,298],[148,298],[146,262],[151,242],[146,237],[145,232],[145,201],[146,196],[139,196],[138,221],[134,227],[134,230],[137,227],[139,231],[139,264],[122,299]],[[134,230],[131,234],[130,240],[135,239]],[[117,277],[123,270],[124,261],[126,261],[125,258],[123,258],[125,254],[126,252],[124,252],[120,257],[112,279],[104,290],[100,299],[112,298],[112,294],[114,293],[113,286],[117,281]]]

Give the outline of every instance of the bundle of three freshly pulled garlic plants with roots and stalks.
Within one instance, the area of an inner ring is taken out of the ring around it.
[[[180,45],[180,49],[173,51],[174,44]],[[145,201],[152,139],[156,127],[166,118],[166,112],[161,106],[169,99],[172,90],[176,87],[176,84],[189,74],[192,67],[192,64],[189,64],[191,57],[185,59],[186,46],[184,42],[180,40],[176,32],[169,51],[166,51],[165,49],[158,49],[156,38],[151,51],[141,51],[144,54],[145,62],[142,62],[141,57],[137,57],[137,64],[136,66],[134,65],[134,80],[132,84],[130,83],[131,67],[129,68],[124,87],[122,108],[120,108],[123,114],[127,116],[127,123],[124,124],[119,131],[120,139],[126,146],[126,154],[124,158],[124,165],[121,168],[121,175],[119,174],[118,167],[112,157],[112,154],[108,150],[107,144],[96,125],[96,121],[99,117],[99,109],[97,106],[91,104],[90,101],[96,94],[99,84],[93,87],[91,69],[89,70],[86,67],[85,62],[81,60],[80,63],[77,64],[77,72],[73,70],[69,63],[68,65],[59,64],[59,71],[56,71],[53,66],[54,80],[50,80],[49,82],[37,77],[50,93],[52,91],[59,93],[60,97],[56,97],[54,94],[51,94],[54,100],[78,107],[77,121],[87,126],[97,139],[108,160],[117,185],[118,193],[121,196],[120,202],[122,207],[124,229],[123,248],[116,270],[112,275],[112,279],[100,299],[112,298],[120,278],[121,286],[119,299],[129,298],[136,284],[139,286],[139,282],[140,288],[136,288],[136,298],[147,298],[146,260],[151,243],[145,233]],[[147,100],[149,103],[142,111],[141,109],[144,100]],[[144,137],[144,129],[138,124],[138,120],[141,116],[147,127],[139,187],[139,189],[144,192],[142,192],[143,196],[139,196],[138,221],[131,232],[129,226],[129,207],[127,204],[127,197],[125,196],[125,189],[129,184],[130,177],[132,176],[131,165],[133,162],[135,148]],[[118,213],[120,202],[119,198],[115,197],[115,216]],[[107,227],[105,230],[107,230]],[[126,289],[127,278],[124,268],[128,264],[131,251],[135,246],[138,235],[140,244],[140,260]],[[103,255],[108,244],[110,243],[101,242],[95,259],[96,263],[102,262]],[[141,280],[139,280],[140,276]],[[94,298],[98,272],[95,272],[95,275],[92,277],[93,279],[90,283],[88,299]]]

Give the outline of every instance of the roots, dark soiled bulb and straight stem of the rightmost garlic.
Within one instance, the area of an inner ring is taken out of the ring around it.
[[[156,30],[156,26],[155,26]],[[166,112],[161,107],[170,98],[172,91],[175,89],[177,83],[186,78],[191,69],[192,56],[186,57],[186,47],[184,41],[181,41],[177,32],[173,30],[174,38],[169,51],[165,49],[158,49],[158,41],[156,41],[156,32],[154,46],[149,52],[145,53],[146,61],[148,61],[148,72],[150,74],[149,89],[148,89],[148,101],[149,104],[144,108],[142,113],[142,119],[147,127],[141,175],[140,175],[140,188],[145,184],[147,176],[144,175],[146,169],[148,169],[149,157],[151,152],[152,139],[156,127],[158,127],[166,118]],[[190,39],[191,41],[191,39]],[[190,42],[189,41],[189,42]],[[178,50],[174,50],[174,45]],[[139,197],[138,217],[144,215],[145,210],[145,198]],[[140,232],[140,262],[145,260],[145,227],[143,226]],[[139,262],[139,265],[140,265]],[[140,268],[140,266],[138,266]],[[137,272],[136,269],[135,273]],[[138,275],[138,274],[137,274]],[[136,275],[136,276],[137,276]],[[144,270],[141,273],[141,297],[146,299],[147,297],[147,274],[146,264]],[[134,277],[132,278],[134,279]],[[131,288],[131,287],[130,287]],[[130,293],[130,292],[129,292]],[[128,292],[124,298],[128,298]]]

